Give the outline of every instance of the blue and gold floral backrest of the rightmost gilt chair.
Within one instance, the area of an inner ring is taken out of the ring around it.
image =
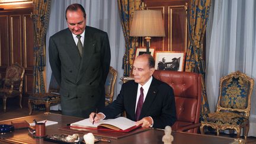
[[[254,79],[236,71],[220,79],[220,93],[217,110],[242,112],[249,117]]]

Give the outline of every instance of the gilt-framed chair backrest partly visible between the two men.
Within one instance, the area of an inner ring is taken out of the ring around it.
[[[117,71],[110,66],[110,70],[105,81],[105,105],[112,103],[114,96],[114,85],[116,84]]]

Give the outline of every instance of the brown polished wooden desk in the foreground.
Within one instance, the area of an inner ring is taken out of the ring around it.
[[[32,123],[33,120],[52,120],[58,121],[58,124],[47,126],[46,133],[47,135],[66,133],[73,134],[72,132],[66,132],[63,130],[59,130],[59,127],[66,126],[68,123],[73,123],[75,121],[82,120],[78,117],[70,117],[70,116],[62,116],[60,114],[39,114],[35,116],[27,116],[21,117],[18,119],[4,120],[0,121],[0,124],[10,124],[12,120],[27,120],[28,123]],[[145,132],[137,133],[136,135],[123,137],[120,139],[110,139],[111,143],[162,143],[162,136],[164,135],[163,130],[151,129]],[[192,133],[184,133],[184,132],[172,132],[174,136],[174,144],[182,144],[182,143],[232,143],[235,139],[229,137],[220,137],[220,136],[210,136],[210,135],[200,135],[200,134],[192,134]],[[0,135],[0,143],[50,143],[46,142],[43,139],[35,139],[28,133],[27,129],[14,130],[12,133],[7,133],[5,135]],[[97,143],[107,143],[107,142],[97,142]],[[95,144],[97,144],[95,143]]]

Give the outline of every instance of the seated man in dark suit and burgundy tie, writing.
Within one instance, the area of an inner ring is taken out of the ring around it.
[[[91,113],[91,121],[113,119],[126,111],[127,118],[142,127],[164,129],[176,121],[174,91],[166,83],[153,78],[155,60],[151,55],[137,56],[133,63],[134,81],[122,85],[117,99],[101,113]],[[142,100],[142,101],[140,101]]]

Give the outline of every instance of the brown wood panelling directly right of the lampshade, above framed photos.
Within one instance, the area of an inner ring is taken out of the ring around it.
[[[159,51],[185,52],[187,48],[187,0],[144,0],[148,9],[162,11],[165,37],[152,37],[151,47]]]

